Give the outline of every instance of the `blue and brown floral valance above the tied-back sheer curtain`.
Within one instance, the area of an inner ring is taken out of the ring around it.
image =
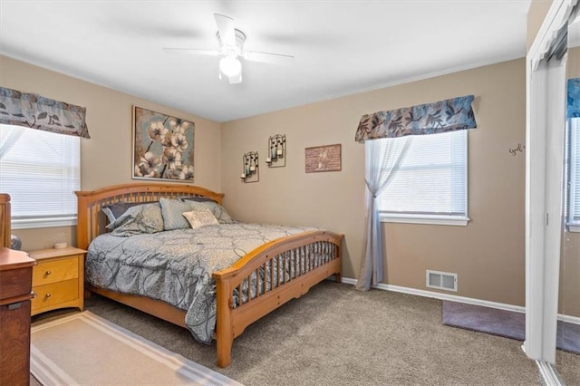
[[[440,132],[478,127],[471,102],[473,95],[404,107],[397,110],[377,111],[362,115],[355,140],[377,140],[407,135],[436,134]]]

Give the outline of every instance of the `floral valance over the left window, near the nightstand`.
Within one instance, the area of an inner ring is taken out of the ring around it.
[[[85,114],[84,107],[0,87],[0,123],[91,138]]]

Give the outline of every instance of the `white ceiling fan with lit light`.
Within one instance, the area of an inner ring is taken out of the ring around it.
[[[198,50],[195,48],[174,48],[166,47],[166,51],[187,51],[200,55],[222,56],[219,60],[219,79],[222,75],[227,77],[230,84],[242,82],[242,63],[239,58],[247,61],[288,64],[294,62],[294,56],[283,55],[281,53],[259,53],[255,51],[244,51],[246,34],[234,27],[234,19],[223,14],[214,14],[218,25],[218,50]]]

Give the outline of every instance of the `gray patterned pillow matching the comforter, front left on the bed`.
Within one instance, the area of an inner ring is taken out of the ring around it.
[[[163,217],[159,203],[130,207],[121,217],[107,226],[114,236],[133,236],[157,233],[163,230]]]

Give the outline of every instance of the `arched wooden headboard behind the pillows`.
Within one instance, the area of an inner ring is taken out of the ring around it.
[[[116,202],[151,202],[160,198],[179,198],[179,196],[207,197],[221,204],[223,193],[216,193],[206,188],[193,185],[161,185],[149,183],[131,183],[114,185],[92,191],[75,192],[78,202],[77,245],[86,249],[96,236],[107,229],[105,216],[101,207]]]

